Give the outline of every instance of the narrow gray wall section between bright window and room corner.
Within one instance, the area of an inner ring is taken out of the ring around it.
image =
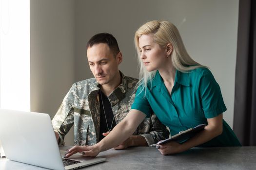
[[[75,82],[74,18],[72,0],[30,0],[31,111],[51,118]]]

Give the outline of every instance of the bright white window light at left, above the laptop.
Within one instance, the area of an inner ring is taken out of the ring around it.
[[[30,111],[30,0],[0,0],[0,107]]]

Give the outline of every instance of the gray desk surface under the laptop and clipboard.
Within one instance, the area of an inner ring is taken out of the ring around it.
[[[84,170],[255,170],[256,147],[193,148],[187,152],[163,156],[155,147],[134,147],[99,154],[106,162]],[[80,169],[80,170],[83,170]],[[0,159],[0,170],[45,170]]]

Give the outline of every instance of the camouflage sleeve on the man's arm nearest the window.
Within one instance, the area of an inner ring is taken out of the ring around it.
[[[64,137],[74,124],[75,94],[76,85],[74,84],[63,99],[56,115],[52,119],[53,128],[59,133],[59,145],[64,145]]]

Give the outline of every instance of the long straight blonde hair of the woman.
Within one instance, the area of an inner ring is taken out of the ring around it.
[[[171,43],[173,46],[173,51],[171,54],[173,66],[181,72],[189,72],[192,69],[205,67],[196,61],[194,61],[185,49],[182,42],[181,36],[174,24],[169,21],[158,21],[153,20],[142,25],[135,33],[134,42],[136,50],[138,53],[138,63],[139,63],[139,85],[142,85],[141,91],[148,85],[151,84],[152,79],[155,77],[157,70],[147,71],[143,61],[140,59],[140,49],[139,49],[139,38],[141,35],[153,34],[154,42],[159,44],[160,47],[164,47]],[[146,90],[145,90],[146,93]]]

